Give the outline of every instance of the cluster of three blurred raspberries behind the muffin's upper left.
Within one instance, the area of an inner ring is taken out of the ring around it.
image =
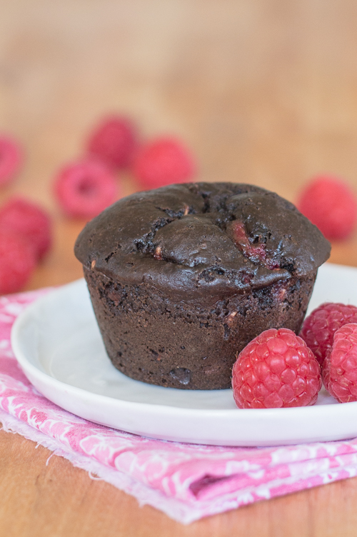
[[[171,136],[141,144],[133,121],[109,116],[91,132],[86,156],[59,171],[54,189],[63,211],[93,218],[121,194],[119,174],[131,171],[141,190],[193,179],[196,166],[188,149]]]

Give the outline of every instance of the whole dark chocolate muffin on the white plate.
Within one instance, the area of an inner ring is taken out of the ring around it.
[[[237,353],[263,330],[298,332],[330,244],[273,192],[193,183],[117,201],[75,254],[114,366],[211,390],[231,386]]]

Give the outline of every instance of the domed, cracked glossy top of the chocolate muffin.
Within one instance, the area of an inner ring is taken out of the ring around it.
[[[176,184],[127,196],[86,224],[74,249],[86,268],[114,281],[148,283],[184,300],[304,276],[330,250],[293,204],[235,183]]]

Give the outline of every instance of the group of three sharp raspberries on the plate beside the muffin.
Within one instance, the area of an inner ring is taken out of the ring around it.
[[[239,408],[308,406],[323,384],[340,403],[357,401],[357,308],[324,303],[303,323],[266,330],[248,343],[233,366]]]

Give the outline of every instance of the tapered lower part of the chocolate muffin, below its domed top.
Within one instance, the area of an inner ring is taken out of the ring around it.
[[[191,390],[230,388],[237,354],[262,331],[285,327],[297,333],[316,273],[207,307],[193,301],[174,302],[146,283],[122,285],[84,267],[114,366],[138,381]]]

